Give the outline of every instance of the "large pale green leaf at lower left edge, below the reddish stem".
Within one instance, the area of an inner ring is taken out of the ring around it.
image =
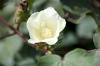
[[[0,62],[5,66],[13,66],[14,55],[22,46],[22,40],[14,35],[0,41]]]

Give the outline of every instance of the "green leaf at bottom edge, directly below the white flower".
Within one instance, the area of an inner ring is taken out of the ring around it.
[[[38,66],[62,66],[58,55],[45,55],[38,59]]]

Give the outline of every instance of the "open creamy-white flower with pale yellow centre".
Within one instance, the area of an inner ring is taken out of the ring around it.
[[[58,41],[59,34],[65,25],[65,20],[52,7],[33,13],[27,21],[30,35],[28,42],[32,44],[45,42],[53,45]]]

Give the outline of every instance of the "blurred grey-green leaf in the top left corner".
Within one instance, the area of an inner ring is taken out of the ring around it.
[[[12,15],[14,14],[14,11],[16,10],[16,3],[18,3],[18,0],[7,1],[5,7],[0,11],[0,16],[3,16],[6,19],[10,20],[13,17]]]

